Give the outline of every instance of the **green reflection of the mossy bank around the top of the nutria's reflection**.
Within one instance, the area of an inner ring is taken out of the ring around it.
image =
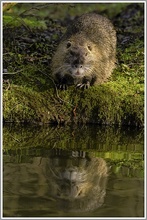
[[[142,129],[141,129],[142,130]],[[4,126],[4,162],[31,163],[34,157],[71,152],[99,157],[120,177],[143,177],[143,131],[114,126]],[[54,154],[53,154],[54,152]],[[84,153],[85,152],[85,153]],[[74,160],[74,157],[73,157]]]

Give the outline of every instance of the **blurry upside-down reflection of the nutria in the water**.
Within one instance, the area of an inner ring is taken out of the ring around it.
[[[104,203],[108,176],[104,159],[58,155],[46,161],[44,172],[59,209],[91,211]]]

